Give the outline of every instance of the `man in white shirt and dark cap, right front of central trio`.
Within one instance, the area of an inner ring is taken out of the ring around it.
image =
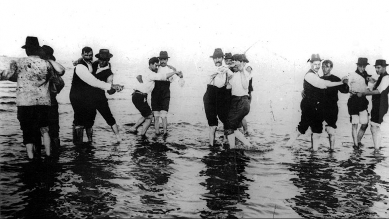
[[[227,122],[225,123],[224,133],[227,135],[230,148],[235,148],[235,137],[245,145],[246,149],[250,149],[250,142],[245,138],[244,134],[238,131],[239,125],[243,118],[250,111],[250,103],[248,101],[248,82],[251,78],[251,73],[245,70],[244,55],[233,55],[232,62],[238,69],[229,80],[231,85],[231,104],[228,113]]]

